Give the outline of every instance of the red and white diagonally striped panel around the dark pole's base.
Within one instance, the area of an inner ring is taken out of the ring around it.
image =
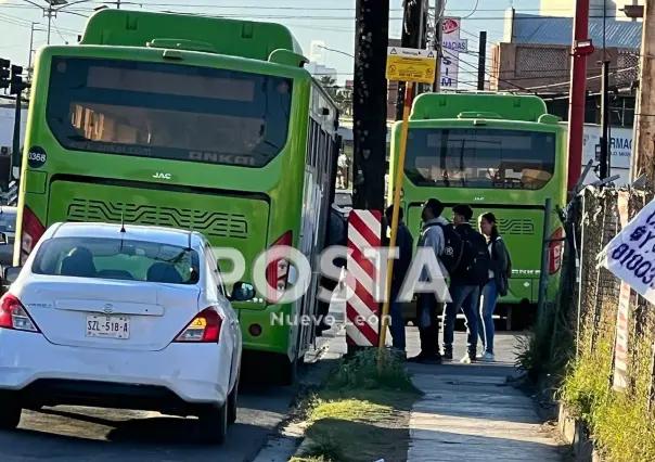
[[[346,303],[346,344],[377,346],[380,303],[375,301],[380,268],[364,256],[367,247],[380,247],[382,214],[375,210],[351,210],[348,215],[348,272],[355,286]]]

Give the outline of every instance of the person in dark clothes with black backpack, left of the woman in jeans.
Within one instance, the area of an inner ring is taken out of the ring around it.
[[[452,301],[444,310],[444,359],[452,360],[454,324],[460,309],[466,318],[467,345],[462,363],[474,362],[478,336],[478,312],[480,288],[488,281],[489,254],[485,238],[471,227],[473,209],[465,204],[452,207],[454,230],[464,242],[462,259],[455,271],[450,273],[450,296]]]

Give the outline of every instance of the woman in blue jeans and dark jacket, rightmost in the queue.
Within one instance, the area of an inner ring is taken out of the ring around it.
[[[485,362],[492,362],[495,360],[493,309],[498,297],[508,295],[511,265],[508,248],[496,226],[496,216],[490,211],[480,215],[478,226],[480,233],[487,238],[489,255],[491,256],[489,281],[483,287],[478,313],[478,332],[483,341],[483,352],[479,359]]]

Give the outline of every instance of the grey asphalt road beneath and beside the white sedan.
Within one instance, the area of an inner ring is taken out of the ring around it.
[[[343,319],[343,312],[337,318]],[[318,346],[339,329],[337,324]],[[311,375],[312,368],[306,365],[304,372]],[[0,461],[251,461],[282,422],[294,396],[291,387],[242,384],[236,423],[218,448],[196,444],[196,421],[191,418],[76,407],[24,411],[16,432],[0,432]]]

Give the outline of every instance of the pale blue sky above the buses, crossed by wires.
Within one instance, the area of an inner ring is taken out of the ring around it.
[[[107,5],[116,8],[117,0],[102,2],[69,0],[52,21],[50,42],[75,44],[87,16],[93,9]],[[462,17],[462,38],[468,39],[468,50],[477,52],[480,30],[488,33],[488,53],[493,42],[502,39],[504,11],[513,5],[517,12],[538,12],[535,0],[446,0],[446,15]],[[75,3],[75,4],[74,4]],[[172,11],[222,15],[252,21],[270,21],[286,25],[309,55],[312,40],[325,47],[352,54],[355,48],[355,0],[120,0],[121,9],[144,11]],[[434,4],[434,0],[431,0]],[[0,57],[14,64],[28,64],[31,24],[35,23],[35,49],[47,40],[48,20],[37,5],[46,0],[0,0]],[[389,37],[399,38],[402,18],[402,0],[390,0]],[[489,54],[488,54],[489,55]],[[462,56],[460,81],[474,82],[477,57]],[[325,52],[324,65],[337,69],[337,84],[352,78],[352,59],[336,52]],[[487,62],[489,68],[489,61]],[[460,88],[466,88],[460,86]]]

